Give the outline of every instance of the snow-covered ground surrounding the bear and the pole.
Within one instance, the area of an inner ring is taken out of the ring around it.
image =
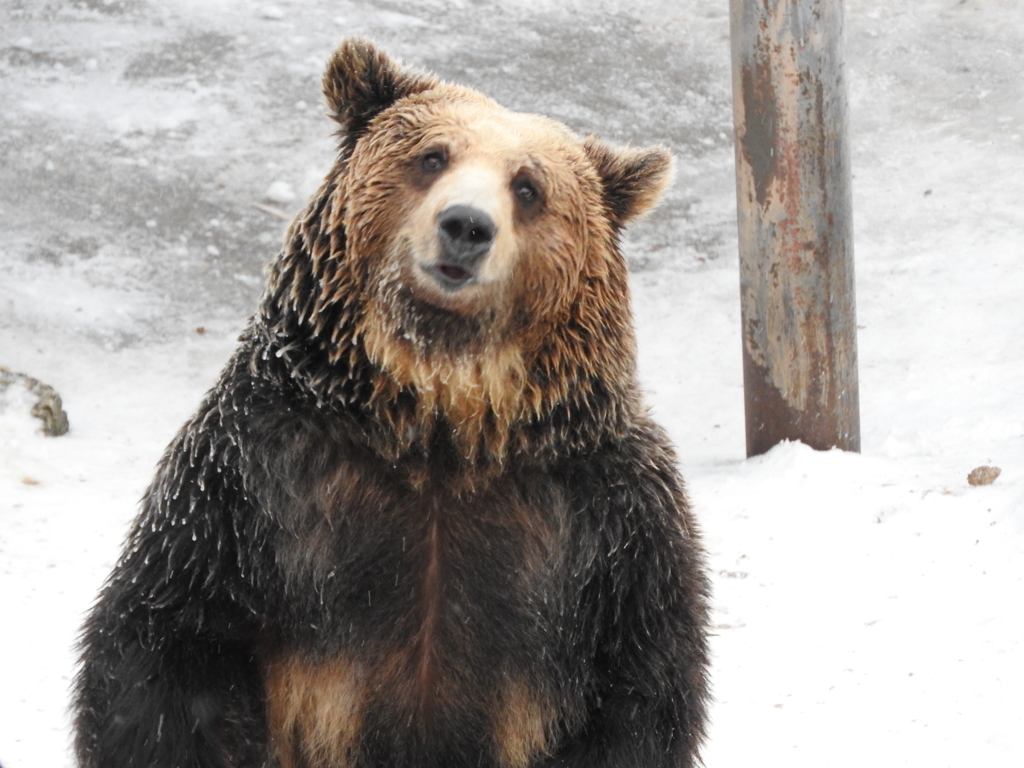
[[[715,574],[707,764],[1024,765],[1024,4],[847,0],[863,453],[754,460],[727,5],[0,3],[0,365],[72,425],[0,414],[5,768],[72,764],[83,611],[254,305],[267,211],[327,168],[319,71],[352,34],[679,158],[628,250]]]

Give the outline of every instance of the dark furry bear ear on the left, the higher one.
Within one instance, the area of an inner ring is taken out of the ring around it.
[[[327,105],[341,125],[349,150],[380,112],[399,98],[436,86],[436,78],[403,70],[373,43],[359,38],[343,41],[324,73]]]

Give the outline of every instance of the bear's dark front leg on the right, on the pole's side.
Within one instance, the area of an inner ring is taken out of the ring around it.
[[[583,503],[584,723],[544,768],[692,768],[709,698],[708,582],[699,535],[659,432],[568,476]]]

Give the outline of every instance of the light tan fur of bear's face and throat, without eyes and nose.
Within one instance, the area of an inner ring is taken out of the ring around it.
[[[370,250],[378,243],[385,250],[386,266],[371,279],[371,299],[358,330],[368,356],[390,379],[379,382],[375,398],[386,401],[401,388],[412,389],[417,417],[407,431],[427,434],[443,417],[467,458],[481,451],[502,457],[511,427],[546,404],[527,369],[536,364],[550,329],[567,318],[581,272],[587,271],[589,239],[604,222],[592,204],[597,179],[580,141],[564,126],[451,88],[455,97],[441,108],[429,93],[423,94],[422,104],[419,97],[411,98],[403,119],[415,121],[422,110],[432,128],[415,147],[388,147],[414,157],[443,150],[449,167],[436,182],[420,189],[401,179],[382,179],[379,172],[374,177],[370,161],[377,153],[371,139],[350,168],[350,199],[359,204],[340,203],[338,209],[345,211],[353,250]],[[514,201],[513,181],[524,173],[536,177],[551,201],[535,220],[517,212]],[[588,173],[593,188],[584,189],[580,179]],[[373,188],[364,186],[368,178],[375,179]],[[373,212],[364,208],[368,200]],[[452,205],[479,208],[497,225],[479,279],[458,292],[445,291],[424,268],[439,257],[437,214]],[[387,215],[378,214],[378,206],[386,206]],[[406,223],[397,232],[378,233],[368,221]],[[443,348],[403,327],[408,309],[398,296],[402,290],[457,314],[487,321],[472,347]],[[515,327],[517,312],[528,315],[527,328]]]

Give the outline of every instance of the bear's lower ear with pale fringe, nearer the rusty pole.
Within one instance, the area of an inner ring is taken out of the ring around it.
[[[604,186],[608,214],[620,227],[656,206],[675,175],[675,160],[664,146],[617,147],[588,136],[583,148]]]

